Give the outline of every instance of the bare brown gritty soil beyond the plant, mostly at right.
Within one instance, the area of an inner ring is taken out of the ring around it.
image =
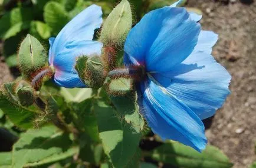
[[[256,160],[256,3],[189,0],[187,6],[201,9],[203,29],[219,34],[213,55],[232,75],[232,93],[206,136],[210,144],[227,154],[234,168],[250,167]],[[12,78],[0,57],[0,84]]]

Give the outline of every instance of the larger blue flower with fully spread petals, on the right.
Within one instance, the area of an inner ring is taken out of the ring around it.
[[[218,35],[202,31],[199,15],[175,5],[149,12],[129,32],[124,64],[145,68],[137,90],[152,131],[202,151],[202,120],[224,103],[231,76],[211,55]]]

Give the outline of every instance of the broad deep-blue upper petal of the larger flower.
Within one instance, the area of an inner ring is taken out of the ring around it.
[[[164,7],[149,12],[130,31],[124,63],[146,65],[147,71],[169,71],[193,51],[200,25],[189,18],[185,8]]]

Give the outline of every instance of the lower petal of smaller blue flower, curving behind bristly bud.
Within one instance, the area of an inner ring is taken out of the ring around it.
[[[75,70],[76,58],[81,55],[100,55],[103,44],[97,41],[74,41],[67,44],[54,58],[54,80],[58,85],[68,88],[86,87],[81,83]]]

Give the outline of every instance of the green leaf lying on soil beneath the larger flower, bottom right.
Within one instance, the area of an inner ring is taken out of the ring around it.
[[[230,168],[233,166],[227,156],[214,146],[207,146],[202,153],[178,142],[169,141],[146,153],[152,159],[177,167],[188,168]]]

